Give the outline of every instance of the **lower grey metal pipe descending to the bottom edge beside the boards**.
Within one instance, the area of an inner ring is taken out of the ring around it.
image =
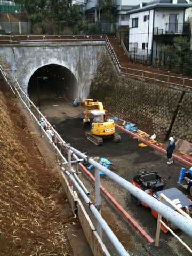
[[[85,203],[89,205],[89,208],[91,212],[93,213],[95,219],[100,223],[102,229],[105,231],[106,235],[110,239],[111,243],[114,245],[115,249],[119,253],[119,255],[126,256],[129,255],[129,253],[125,250],[123,245],[119,242],[118,238],[114,235],[113,231],[109,228],[107,222],[102,218],[98,210],[95,208],[95,206],[90,202],[90,198],[85,195],[82,188],[78,185],[77,181],[74,179],[73,175],[65,171],[65,173],[68,175],[69,179],[73,181],[74,186],[78,190],[79,194],[83,197]]]

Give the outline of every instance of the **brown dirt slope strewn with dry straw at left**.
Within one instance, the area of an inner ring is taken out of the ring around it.
[[[55,200],[59,179],[47,169],[15,99],[2,84],[0,255],[71,255]]]

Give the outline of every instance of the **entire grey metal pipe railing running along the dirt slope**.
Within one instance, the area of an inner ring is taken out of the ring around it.
[[[54,143],[52,141],[52,139],[49,137],[49,135],[43,129],[41,123],[38,121],[37,117],[34,115],[33,111],[31,111],[31,106],[33,106],[33,108],[37,111],[37,113],[39,115],[39,119],[40,119],[40,117],[43,117],[47,124],[49,124],[50,126],[51,126],[51,124],[43,116],[41,111],[39,111],[39,109],[34,105],[34,103],[29,99],[28,95],[26,95],[26,93],[22,90],[16,77],[14,77],[14,80],[13,80],[14,82],[11,81],[12,84],[10,84],[10,83],[8,83],[8,79],[6,78],[6,75],[5,75],[4,71],[2,70],[2,67],[0,67],[0,70],[4,76],[5,81],[9,85],[9,87],[10,86],[12,87],[12,91],[14,92],[14,95],[16,95],[20,99],[23,107],[29,111],[31,118],[33,118],[37,122],[41,132],[43,132],[46,135],[47,139],[49,139],[49,141],[52,143],[52,146],[54,147],[57,155],[62,159],[63,163],[60,165],[61,170],[63,172],[65,172],[66,175],[68,175],[68,177],[71,181],[73,181],[76,189],[82,195],[85,203],[87,203],[89,205],[90,210],[92,211],[95,219],[97,220],[98,234],[100,234],[100,236],[101,236],[101,228],[102,228],[105,231],[105,233],[107,234],[111,243],[114,245],[114,247],[117,250],[117,252],[119,253],[119,255],[129,255],[129,253],[125,250],[123,245],[118,241],[117,237],[115,236],[113,231],[111,231],[111,229],[107,225],[106,221],[102,218],[101,214],[98,211],[98,209],[100,209],[100,184],[99,184],[98,171],[103,172],[111,180],[113,180],[119,186],[121,186],[122,188],[127,190],[133,196],[140,199],[143,203],[147,204],[151,209],[155,210],[158,214],[162,215],[165,219],[167,219],[167,221],[170,221],[171,223],[173,223],[173,225],[177,226],[179,229],[181,229],[187,235],[192,236],[192,221],[190,219],[186,219],[185,217],[181,216],[178,212],[172,210],[169,206],[166,206],[165,204],[163,204],[162,202],[159,202],[154,197],[149,196],[141,189],[133,186],[129,181],[123,179],[116,173],[108,170],[106,167],[102,166],[98,162],[95,162],[93,159],[89,158],[89,156],[82,153],[81,151],[71,147],[69,144],[67,144],[61,138],[61,136],[57,133],[57,131],[53,127],[51,127],[51,130],[54,133],[54,138],[57,138],[57,140],[55,139],[54,142],[59,141],[60,145],[62,145],[62,147],[64,147],[67,150],[67,155],[68,155],[68,161],[67,161],[66,158],[61,153],[61,151],[59,150],[57,143]],[[95,179],[95,180],[97,180],[96,182],[98,182],[97,184],[95,184],[95,187],[97,187],[97,189],[99,189],[99,190],[97,190],[97,194],[96,194],[97,195],[97,205],[94,205],[90,202],[89,197],[87,197],[87,195],[88,195],[87,190],[81,187],[81,183],[78,183],[78,180],[76,179],[76,175],[74,175],[74,174],[76,174],[76,172],[74,172],[71,167],[71,164],[72,164],[71,155],[75,157],[75,163],[78,163],[78,161],[79,162],[85,161],[95,167],[95,170],[96,170],[95,177],[97,177],[97,179]],[[64,165],[67,164],[68,170],[66,170],[63,167],[63,164]]]

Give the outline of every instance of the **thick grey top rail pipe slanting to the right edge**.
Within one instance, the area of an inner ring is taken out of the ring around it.
[[[118,185],[125,188],[129,193],[133,196],[140,199],[142,202],[146,203],[151,209],[155,210],[159,214],[161,214],[165,219],[169,220],[187,235],[192,236],[192,221],[188,220],[187,218],[183,217],[178,212],[172,210],[169,206],[159,202],[152,196],[149,196],[147,193],[142,191],[141,189],[132,185],[129,181],[123,179],[122,177],[118,176],[116,173],[111,172],[106,167],[100,165],[99,163],[95,162],[93,159],[87,157],[77,149],[70,147],[69,145],[65,144],[67,148],[74,151],[78,156],[83,158],[85,161],[92,164],[95,168],[100,170],[101,172],[105,173],[111,180],[115,181]]]

